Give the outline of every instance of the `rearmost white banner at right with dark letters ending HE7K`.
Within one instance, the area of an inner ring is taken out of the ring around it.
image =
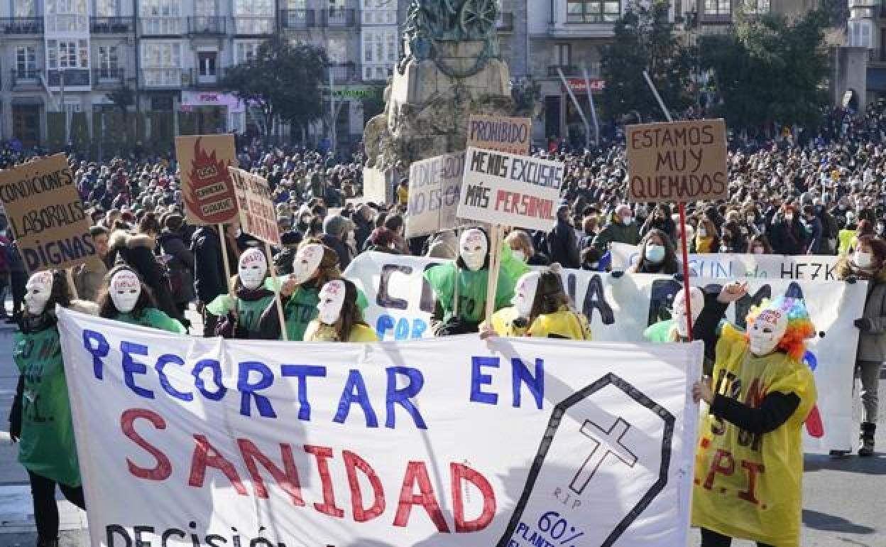
[[[640,259],[640,247],[626,243],[610,246],[612,270],[625,271]],[[689,254],[693,277],[761,277],[833,281],[839,256],[831,254]]]

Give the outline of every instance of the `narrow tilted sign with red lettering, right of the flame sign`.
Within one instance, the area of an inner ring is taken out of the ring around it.
[[[270,245],[280,245],[276,209],[268,181],[243,169],[228,168],[228,171],[237,193],[241,230]]]

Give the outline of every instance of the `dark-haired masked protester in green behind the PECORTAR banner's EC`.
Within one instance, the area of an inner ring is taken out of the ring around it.
[[[105,277],[98,297],[98,315],[128,324],[185,334],[183,324],[157,309],[151,289],[128,266],[117,266]]]

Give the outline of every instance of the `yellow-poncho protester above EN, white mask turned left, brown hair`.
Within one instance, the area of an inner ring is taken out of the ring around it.
[[[511,301],[513,306],[496,311],[492,324],[481,324],[481,336],[591,340],[587,317],[571,308],[560,271],[560,265],[555,263],[548,270],[521,276]]]

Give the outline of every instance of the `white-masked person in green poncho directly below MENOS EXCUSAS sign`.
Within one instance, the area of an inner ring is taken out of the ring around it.
[[[431,328],[435,336],[478,332],[478,325],[486,309],[486,282],[489,277],[489,239],[486,232],[479,228],[462,232],[458,247],[459,257],[456,261],[434,266],[424,272],[424,278],[434,291]],[[511,277],[510,271],[504,267],[502,261],[495,292],[496,311],[509,306],[514,296],[517,279]],[[457,315],[454,306],[456,279]]]

